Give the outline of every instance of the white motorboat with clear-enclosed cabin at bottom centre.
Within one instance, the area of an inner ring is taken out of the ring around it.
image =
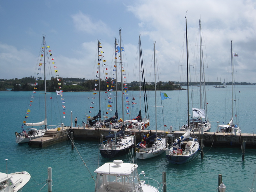
[[[148,179],[145,173],[138,174],[138,165],[123,163],[122,160],[114,160],[113,163],[105,163],[96,169],[97,173],[95,192],[158,192],[157,188],[146,183]],[[141,180],[144,176],[146,180]]]

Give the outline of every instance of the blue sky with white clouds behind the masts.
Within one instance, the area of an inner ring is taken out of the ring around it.
[[[0,0],[0,78],[33,75],[45,36],[58,63],[58,75],[92,79],[100,41],[113,65],[115,38],[122,34],[126,72],[136,79],[139,35],[147,75],[153,43],[162,81],[182,81],[185,15],[190,66],[198,66],[201,20],[206,81],[228,78],[231,40],[237,82],[256,82],[256,1],[253,0]],[[231,79],[226,79],[230,82]]]

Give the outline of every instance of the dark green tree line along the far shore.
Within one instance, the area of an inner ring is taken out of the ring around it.
[[[38,79],[38,80],[36,80]],[[37,84],[36,84],[37,83]],[[97,85],[96,85],[97,84]],[[198,85],[199,82],[189,82],[189,85]],[[221,85],[220,82],[206,82],[206,85]],[[231,85],[231,82],[227,82],[227,85]],[[252,85],[251,83],[238,83],[235,82],[236,85]],[[95,86],[96,85],[96,86]],[[85,78],[62,78],[62,77],[52,77],[50,80],[46,80],[46,91],[55,92],[55,90],[62,90],[64,92],[79,92],[79,91],[99,91],[99,85],[101,91],[108,91],[110,89],[113,90],[121,90],[121,83],[118,82],[116,84],[116,79],[91,79],[86,80]],[[156,83],[157,90],[179,90],[182,85],[187,85],[185,82],[163,82],[159,81]],[[123,89],[138,91],[141,90],[155,90],[154,82],[138,82],[132,81],[130,83],[126,83],[123,85]],[[126,87],[126,88],[124,88]],[[34,76],[23,77],[22,79],[0,79],[0,90],[12,89],[12,91],[32,91],[36,89],[36,91],[44,90],[44,80],[42,78],[36,78]]]

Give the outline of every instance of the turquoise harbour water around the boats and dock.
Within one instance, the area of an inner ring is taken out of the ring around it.
[[[209,87],[210,100],[209,112],[212,123],[212,131],[215,131],[216,121],[224,121],[230,118],[230,112],[226,110],[226,89]],[[255,132],[255,86],[238,86],[239,93],[239,125],[243,133]],[[162,102],[164,106],[164,122],[161,119],[162,108],[157,108],[157,128],[164,129],[164,124],[169,128],[170,125],[176,129],[176,123],[182,124],[184,121],[181,118],[180,122],[176,121],[177,115],[177,95],[176,91],[166,91],[168,96],[172,99],[165,99]],[[76,152],[71,150],[70,142],[65,141],[47,148],[30,148],[27,144],[18,145],[15,143],[15,132],[21,130],[20,126],[24,120],[26,108],[28,105],[29,92],[0,92],[0,107],[2,108],[0,129],[2,139],[0,140],[1,158],[0,158],[0,172],[6,172],[6,161],[8,159],[8,172],[28,171],[31,174],[31,180],[23,188],[23,191],[39,191],[47,179],[47,168],[52,167],[52,191],[94,191],[94,181],[83,161]],[[129,93],[130,97],[132,92]],[[138,92],[133,92],[137,94]],[[182,93],[182,96],[186,92]],[[180,96],[180,97],[182,97]],[[88,97],[90,99],[88,99]],[[90,110],[92,93],[91,92],[67,92],[64,93],[66,106],[66,118],[62,118],[65,125],[70,125],[70,111],[73,113],[73,121],[77,116],[78,124],[82,123],[85,112],[88,114]],[[105,111],[108,100],[104,99],[102,94],[102,111]],[[152,99],[153,98],[153,99]],[[60,99],[60,98],[57,98]],[[130,99],[131,100],[131,99]],[[60,100],[58,100],[59,102]],[[34,101],[36,102],[36,100]],[[131,109],[131,116],[138,114],[138,99],[135,98],[134,108]],[[154,104],[154,92],[149,92],[149,105]],[[53,106],[52,101],[49,101],[49,108],[57,108]],[[96,102],[95,102],[96,104]],[[36,104],[35,104],[36,105]],[[61,105],[61,101],[59,102]],[[157,104],[160,106],[161,104]],[[180,104],[179,104],[180,105]],[[184,105],[184,106],[182,106]],[[33,105],[34,106],[34,105]],[[96,105],[95,105],[96,106]],[[129,105],[131,107],[131,105]],[[113,105],[113,108],[115,106]],[[185,104],[181,104],[186,114]],[[48,124],[59,124],[59,117],[62,115],[62,108],[60,108],[60,115],[49,117]],[[35,109],[36,110],[36,109]],[[94,108],[92,114],[98,112],[98,108]],[[57,110],[56,110],[57,111]],[[106,111],[105,111],[106,112]],[[113,114],[115,110],[112,111]],[[118,110],[119,117],[122,116],[121,110]],[[227,114],[228,113],[228,114]],[[149,107],[150,114],[150,128],[155,129],[155,108]],[[227,114],[227,115],[226,115]],[[42,112],[29,114],[29,120],[37,116],[44,116]],[[108,116],[111,116],[109,114]],[[125,112],[126,116],[126,112]],[[183,116],[183,115],[180,115]],[[227,116],[227,117],[226,117]],[[126,117],[124,117],[125,119]],[[226,118],[226,119],[225,119]],[[229,119],[228,119],[229,120]],[[227,120],[227,121],[228,121]],[[87,167],[94,176],[94,170],[98,165],[102,165],[113,159],[103,159],[98,150],[98,141],[92,140],[76,140],[76,148],[84,159]],[[127,162],[129,157],[122,156],[117,159],[122,159]],[[216,191],[218,185],[218,174],[222,174],[222,181],[227,187],[227,191],[249,191],[247,187],[251,188],[255,166],[256,150],[246,149],[245,160],[242,161],[241,149],[229,148],[204,148],[204,159],[199,156],[191,163],[184,165],[173,165],[165,159],[164,154],[148,160],[137,160],[135,163],[139,165],[138,171],[145,171],[148,177],[152,177],[159,182],[162,181],[162,171],[167,172],[167,189],[168,191]],[[45,187],[42,191],[46,191]]]

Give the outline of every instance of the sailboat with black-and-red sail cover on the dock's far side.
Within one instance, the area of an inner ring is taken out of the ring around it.
[[[141,73],[140,73],[141,72]],[[141,116],[141,77],[142,77],[142,84],[143,84],[143,93],[144,93],[144,103],[145,103],[145,116]],[[148,100],[147,100],[147,92],[146,92],[146,86],[145,86],[145,75],[144,75],[144,66],[143,66],[143,58],[142,58],[142,49],[141,49],[141,41],[140,41],[140,35],[139,35],[139,105],[140,105],[140,111],[137,117],[129,120],[125,120],[124,124],[127,126],[128,129],[146,129],[149,126],[149,117],[147,117],[148,112]],[[134,98],[135,99],[135,98]],[[134,102],[132,102],[133,104]]]

